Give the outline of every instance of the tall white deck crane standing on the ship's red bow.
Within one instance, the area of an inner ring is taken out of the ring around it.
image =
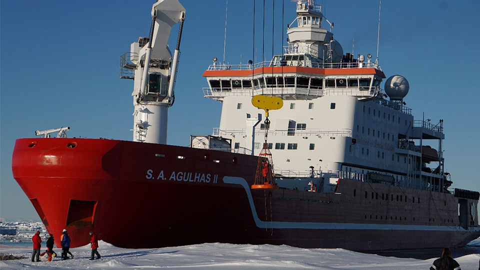
[[[158,0],[151,16],[149,37],[138,37],[130,52],[122,55],[120,77],[134,79],[133,141],[165,144],[185,8],[178,0]],[[171,26],[177,22],[180,29],[172,57],[167,42]]]

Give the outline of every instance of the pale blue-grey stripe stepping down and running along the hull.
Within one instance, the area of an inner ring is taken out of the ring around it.
[[[239,184],[246,192],[248,202],[250,203],[251,214],[255,225],[259,228],[265,227],[265,221],[260,220],[256,213],[253,198],[251,196],[250,186],[245,179],[241,177],[224,176],[224,183]],[[425,225],[400,225],[400,224],[371,224],[371,223],[326,223],[326,222],[284,222],[268,221],[268,226],[273,228],[291,228],[291,229],[363,229],[363,230],[440,230],[440,231],[480,231],[480,228],[469,228],[468,230],[460,227],[448,226],[425,226]]]

